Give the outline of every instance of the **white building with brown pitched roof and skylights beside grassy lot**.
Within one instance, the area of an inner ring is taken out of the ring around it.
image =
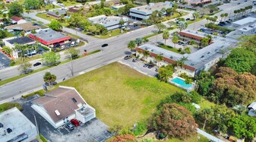
[[[58,87],[38,99],[31,106],[54,128],[65,125],[71,119],[86,123],[96,117],[96,111],[85,102],[74,87]]]

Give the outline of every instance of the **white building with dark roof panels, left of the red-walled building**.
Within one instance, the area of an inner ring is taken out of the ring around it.
[[[22,37],[11,37],[8,39],[2,39],[3,42],[5,43],[5,46],[10,47],[11,49],[13,49],[15,47],[15,44],[21,44],[21,45],[27,45],[27,46],[32,46],[33,44],[36,43],[35,40],[30,39],[27,36],[22,36]],[[19,58],[19,50],[12,50],[12,57],[14,58]],[[27,51],[26,55],[36,55],[36,50],[32,49],[30,51]]]

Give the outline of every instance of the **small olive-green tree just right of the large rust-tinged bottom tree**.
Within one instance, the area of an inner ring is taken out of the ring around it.
[[[197,117],[199,119],[201,119],[202,121],[204,121],[204,126],[203,126],[203,131],[204,131],[207,121],[210,121],[210,119],[213,118],[213,109],[205,108],[205,109],[201,110],[200,112],[198,112]]]

